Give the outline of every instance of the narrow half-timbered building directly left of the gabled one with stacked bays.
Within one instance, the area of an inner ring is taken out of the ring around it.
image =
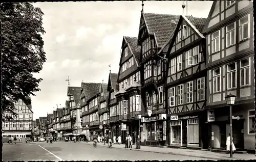
[[[118,102],[116,100],[115,94],[119,91],[119,85],[117,84],[118,74],[111,73],[109,74],[109,81],[108,81],[108,109],[110,111],[110,137],[118,137],[120,134],[119,130],[119,115],[118,115]]]

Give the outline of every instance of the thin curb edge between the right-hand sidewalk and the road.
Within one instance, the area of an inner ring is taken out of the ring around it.
[[[86,145],[90,145],[88,143],[84,143]],[[106,146],[102,146],[102,145],[97,145],[97,146],[101,146],[101,147],[106,147]],[[118,147],[113,147],[112,148],[116,148],[116,149],[123,149],[123,150],[127,150],[125,148],[118,148]],[[132,151],[142,151],[142,152],[153,152],[153,153],[162,153],[162,154],[170,154],[170,155],[180,155],[180,156],[188,156],[188,157],[200,157],[200,158],[205,158],[205,159],[212,159],[212,160],[230,160],[229,158],[220,158],[220,157],[206,157],[206,156],[197,156],[197,155],[188,155],[188,154],[182,154],[182,153],[172,153],[172,152],[158,152],[158,151],[145,151],[145,150],[136,150],[136,149],[132,149]]]

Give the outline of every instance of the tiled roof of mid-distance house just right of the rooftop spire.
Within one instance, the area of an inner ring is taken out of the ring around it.
[[[86,101],[99,93],[99,87],[100,87],[100,83],[83,83],[82,82],[82,89],[85,93]]]

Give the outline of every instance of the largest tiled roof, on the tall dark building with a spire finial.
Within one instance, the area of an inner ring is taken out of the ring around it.
[[[155,34],[158,47],[162,47],[175,31],[180,15],[143,13],[149,34]],[[172,22],[175,21],[175,23]]]

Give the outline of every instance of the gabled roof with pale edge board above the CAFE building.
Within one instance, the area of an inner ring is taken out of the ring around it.
[[[184,16],[184,15],[180,15],[180,19],[184,19],[190,26],[191,28],[194,29],[194,31],[202,38],[204,38],[204,36],[202,35],[203,32],[203,28],[206,22],[206,18],[198,18],[198,17],[193,17],[193,16]],[[179,21],[180,21],[179,19]],[[178,21],[178,23],[179,23]],[[178,25],[178,24],[177,24]],[[177,26],[176,26],[177,28]],[[174,30],[174,32],[169,36],[169,39],[164,43],[164,45],[162,46],[162,48],[158,51],[158,54],[162,52],[162,50],[170,43],[170,41],[173,39],[174,37],[174,33],[175,33],[176,29]]]

